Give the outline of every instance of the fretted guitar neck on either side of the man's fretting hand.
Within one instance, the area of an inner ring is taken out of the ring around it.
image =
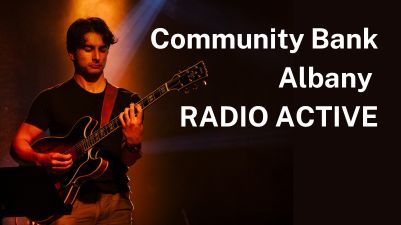
[[[156,90],[148,94],[146,97],[142,98],[136,104],[140,104],[142,106],[142,109],[145,110],[147,107],[156,102],[156,100],[160,99],[169,91],[170,90],[168,88],[167,83],[164,83]],[[89,135],[87,138],[78,142],[75,146],[75,149],[80,150],[81,152],[86,152],[120,127],[121,127],[120,120],[118,116],[116,116],[113,119],[111,119],[106,125],[104,125],[103,127],[93,132],[91,135]]]

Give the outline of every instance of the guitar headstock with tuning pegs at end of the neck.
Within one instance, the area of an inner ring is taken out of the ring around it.
[[[175,74],[167,82],[167,87],[169,90],[184,90],[187,93],[190,88],[197,89],[200,86],[206,86],[207,77],[206,65],[203,61],[200,61],[184,71]]]

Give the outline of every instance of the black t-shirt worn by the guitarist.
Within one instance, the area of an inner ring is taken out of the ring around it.
[[[84,116],[91,116],[100,123],[103,97],[104,91],[90,93],[71,79],[40,92],[33,101],[25,122],[42,130],[49,129],[51,136],[64,136],[78,119]],[[124,111],[131,102],[138,102],[138,100],[138,95],[119,88],[110,120]],[[121,160],[122,138],[122,131],[118,129],[98,144],[101,149],[99,155],[109,161],[109,168],[96,180],[85,182],[81,187],[80,195],[129,190],[126,175],[128,167]]]

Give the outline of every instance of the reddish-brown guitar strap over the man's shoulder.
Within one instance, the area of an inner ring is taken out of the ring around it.
[[[100,127],[106,125],[111,117],[111,112],[116,102],[118,88],[107,82],[103,98],[102,114],[100,117]]]

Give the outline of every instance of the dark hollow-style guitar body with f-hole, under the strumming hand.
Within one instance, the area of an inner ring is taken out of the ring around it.
[[[97,156],[97,149],[91,148],[85,152],[74,149],[75,144],[93,132],[97,123],[96,120],[89,116],[82,117],[66,136],[45,137],[32,145],[32,148],[39,153],[58,152],[72,154],[73,165],[67,172],[51,174],[54,179],[54,185],[67,207],[72,206],[74,203],[83,182],[101,176],[108,168],[108,161]],[[44,218],[30,219],[42,224],[50,223],[58,217],[57,215],[49,215]]]

